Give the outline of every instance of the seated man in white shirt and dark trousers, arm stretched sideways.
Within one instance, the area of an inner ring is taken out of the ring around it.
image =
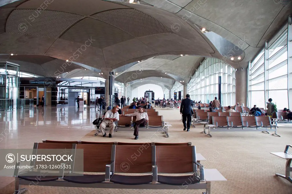
[[[134,135],[135,135],[135,140],[138,140],[138,135],[139,135],[139,126],[144,127],[146,123],[148,123],[148,114],[146,112],[143,112],[143,107],[138,106],[137,107],[138,112],[134,112],[132,114],[125,114],[122,115],[122,117],[136,117],[136,122],[134,123]]]

